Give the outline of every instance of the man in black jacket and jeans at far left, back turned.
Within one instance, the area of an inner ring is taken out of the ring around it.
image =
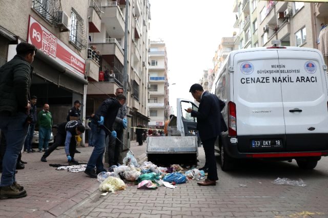
[[[36,48],[22,42],[16,52],[17,55],[0,68],[0,129],[7,140],[0,199],[26,197],[23,186],[15,180],[15,167],[31,122],[27,120],[31,107],[28,100]]]

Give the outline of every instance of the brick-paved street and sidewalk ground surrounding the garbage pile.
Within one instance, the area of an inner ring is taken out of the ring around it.
[[[131,142],[131,150],[144,161],[144,146]],[[87,162],[92,148],[78,148],[80,162]],[[66,164],[63,148],[47,160],[42,154],[23,154],[25,169],[16,174],[27,197],[0,201],[1,217],[328,217],[328,158],[313,171],[302,171],[296,161],[242,162],[233,172],[218,167],[216,186],[198,186],[187,181],[175,189],[164,186],[140,190],[127,183],[127,190],[100,196],[99,182],[83,172],[56,171],[52,164]],[[219,156],[217,156],[217,160]],[[204,164],[199,148],[199,165]],[[275,185],[280,178],[298,180],[305,187]]]

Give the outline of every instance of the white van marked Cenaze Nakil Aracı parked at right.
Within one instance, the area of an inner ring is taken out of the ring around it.
[[[319,50],[257,47],[233,51],[212,93],[226,103],[229,130],[216,144],[223,171],[235,159],[292,160],[313,169],[328,155],[326,65]]]

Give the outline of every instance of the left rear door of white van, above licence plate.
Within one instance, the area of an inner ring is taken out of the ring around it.
[[[236,68],[232,77],[239,152],[283,150],[281,84],[273,81],[280,76],[278,65],[276,50],[234,55]]]

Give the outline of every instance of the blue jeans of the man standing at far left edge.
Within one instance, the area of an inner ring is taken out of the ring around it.
[[[16,162],[29,129],[29,125],[25,124],[26,117],[27,115],[21,112],[14,116],[0,114],[0,129],[4,132],[7,141],[0,186],[9,186],[16,182],[14,173]]]

